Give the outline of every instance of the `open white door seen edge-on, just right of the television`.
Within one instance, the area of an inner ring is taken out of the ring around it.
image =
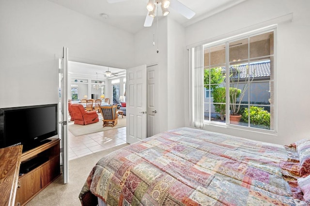
[[[62,58],[59,58],[59,137],[61,138],[61,165],[63,173],[63,183],[68,183],[68,48],[63,47]]]

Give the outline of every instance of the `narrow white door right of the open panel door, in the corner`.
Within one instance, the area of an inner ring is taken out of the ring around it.
[[[147,137],[159,133],[159,91],[158,91],[158,65],[149,66],[146,69],[147,77]]]

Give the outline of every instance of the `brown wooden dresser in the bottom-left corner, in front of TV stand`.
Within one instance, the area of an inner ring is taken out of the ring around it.
[[[0,149],[0,196],[1,205],[14,206],[19,166],[23,146]]]

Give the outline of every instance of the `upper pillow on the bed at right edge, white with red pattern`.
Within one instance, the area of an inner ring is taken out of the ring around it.
[[[299,175],[310,175],[310,140],[302,139],[295,142],[296,151],[299,155]]]

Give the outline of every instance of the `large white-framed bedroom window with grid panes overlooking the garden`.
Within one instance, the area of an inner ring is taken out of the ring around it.
[[[203,70],[205,122],[274,131],[274,30],[204,45]]]

